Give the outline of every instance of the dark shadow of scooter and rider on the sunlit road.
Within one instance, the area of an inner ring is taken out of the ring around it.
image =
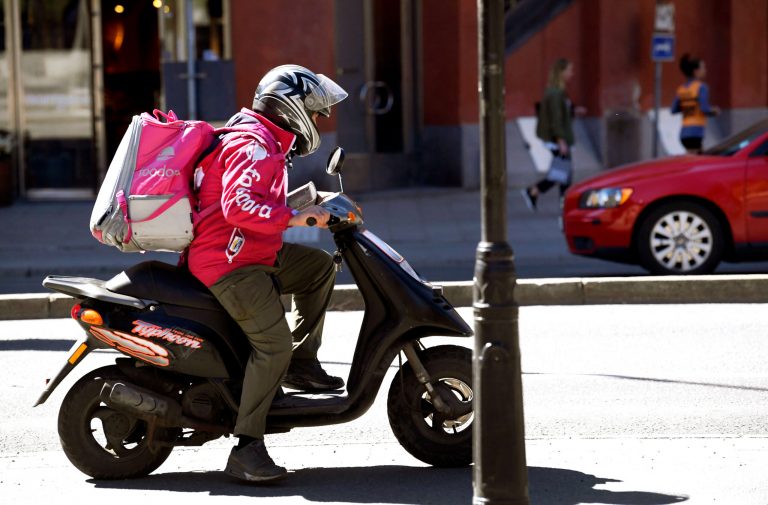
[[[613,479],[574,470],[529,467],[531,503],[662,505],[687,500],[646,491],[608,491]],[[471,468],[373,466],[307,468],[271,485],[249,485],[223,472],[173,472],[127,481],[91,480],[97,488],[201,493],[211,496],[301,497],[309,502],[466,504],[472,502]]]

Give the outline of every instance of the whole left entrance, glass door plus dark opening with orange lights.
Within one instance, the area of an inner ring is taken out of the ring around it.
[[[159,103],[162,4],[2,0],[0,129],[12,139],[13,194],[94,196],[132,115]]]

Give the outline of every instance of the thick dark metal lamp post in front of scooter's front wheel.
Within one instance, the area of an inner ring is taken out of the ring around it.
[[[514,253],[507,243],[504,0],[478,0],[482,237],[474,279],[473,503],[528,505]]]

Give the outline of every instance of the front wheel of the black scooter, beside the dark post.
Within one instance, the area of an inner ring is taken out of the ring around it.
[[[400,445],[411,455],[433,466],[459,467],[472,463],[472,351],[444,345],[419,352],[432,385],[457,414],[438,412],[426,387],[410,363],[397,372],[389,388],[389,425]]]

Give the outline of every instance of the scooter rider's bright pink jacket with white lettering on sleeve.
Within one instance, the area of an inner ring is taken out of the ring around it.
[[[227,133],[205,160],[200,210],[221,206],[195,225],[187,257],[189,270],[208,287],[238,268],[274,265],[293,215],[286,156],[295,136],[246,108],[227,126],[249,131]]]

